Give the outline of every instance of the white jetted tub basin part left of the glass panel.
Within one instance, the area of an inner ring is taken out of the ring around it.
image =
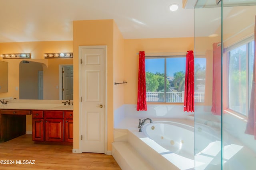
[[[194,160],[194,127],[172,121],[155,121],[146,124],[142,131],[164,149]]]

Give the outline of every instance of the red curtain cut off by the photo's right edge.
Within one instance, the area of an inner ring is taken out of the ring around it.
[[[252,74],[252,92],[251,92],[251,100],[250,100],[250,108],[248,113],[248,121],[246,125],[245,133],[254,135],[254,139],[256,139],[256,74],[255,74],[255,62],[256,62],[256,16],[255,16],[255,26],[254,26],[254,60],[253,60],[253,74]]]

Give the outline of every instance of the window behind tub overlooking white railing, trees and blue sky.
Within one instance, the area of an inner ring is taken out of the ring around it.
[[[195,62],[195,102],[204,102],[205,58]],[[147,102],[183,102],[186,57],[146,57]]]

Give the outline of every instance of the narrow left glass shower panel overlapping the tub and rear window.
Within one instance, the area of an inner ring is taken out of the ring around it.
[[[196,103],[194,114],[195,170],[221,170],[221,4],[198,0],[194,13],[194,57],[206,60],[204,102]]]

